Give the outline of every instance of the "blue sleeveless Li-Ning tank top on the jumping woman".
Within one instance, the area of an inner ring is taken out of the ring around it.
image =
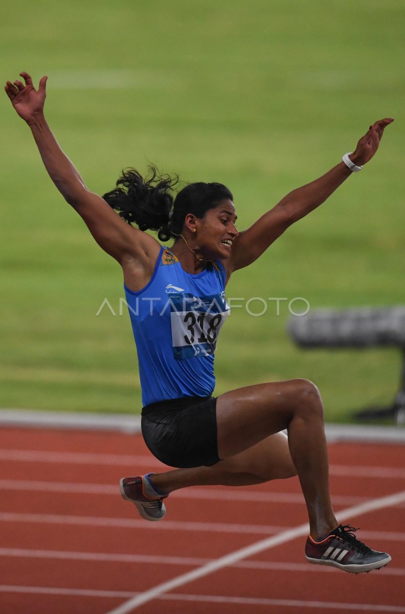
[[[201,273],[186,273],[162,247],[147,286],[133,292],[124,284],[144,406],[214,391],[215,345],[230,313],[225,279],[218,260]]]

